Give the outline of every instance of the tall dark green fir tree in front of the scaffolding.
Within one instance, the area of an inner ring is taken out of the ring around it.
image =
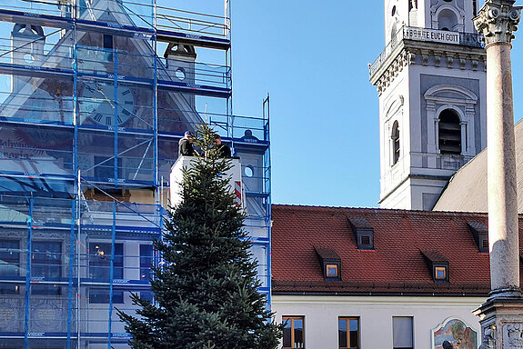
[[[282,326],[267,322],[266,297],[256,288],[256,262],[243,230],[212,129],[201,125],[195,145],[203,155],[186,169],[183,202],[155,246],[165,264],[151,281],[156,304],[132,296],[135,317],[118,311],[136,349],[272,349]]]

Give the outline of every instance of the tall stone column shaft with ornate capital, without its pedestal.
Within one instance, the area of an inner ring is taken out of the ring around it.
[[[520,9],[487,0],[474,23],[487,48],[488,240],[493,295],[519,291],[518,193],[510,44]]]

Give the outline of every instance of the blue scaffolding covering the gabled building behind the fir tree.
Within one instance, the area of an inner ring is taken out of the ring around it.
[[[240,157],[270,304],[268,96],[233,114],[230,0],[214,10],[1,2],[0,349],[127,346],[115,308],[154,299],[170,168],[202,122]]]

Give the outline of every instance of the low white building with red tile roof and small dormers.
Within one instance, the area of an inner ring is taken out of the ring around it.
[[[283,348],[478,349],[487,214],[279,204],[272,213]]]

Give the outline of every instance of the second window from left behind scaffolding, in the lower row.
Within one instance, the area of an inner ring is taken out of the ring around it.
[[[56,241],[33,241],[31,243],[31,277],[44,281],[58,281],[62,276],[62,243]],[[60,295],[59,284],[31,284],[32,294]]]

